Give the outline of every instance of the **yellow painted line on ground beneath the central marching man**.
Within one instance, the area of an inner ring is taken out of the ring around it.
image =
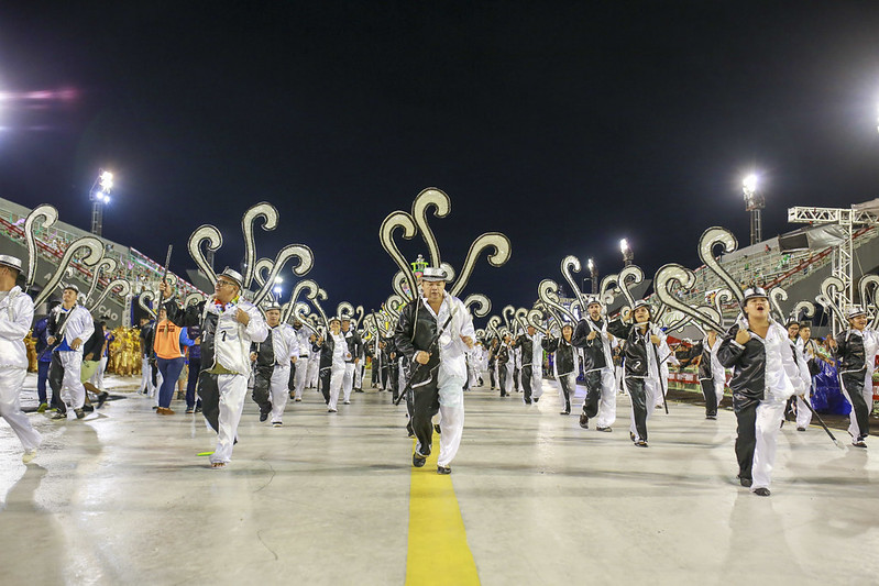
[[[413,442],[413,445],[415,442]],[[451,476],[437,474],[439,436],[422,468],[413,466],[409,485],[407,586],[479,585],[476,563],[466,544],[464,520]]]

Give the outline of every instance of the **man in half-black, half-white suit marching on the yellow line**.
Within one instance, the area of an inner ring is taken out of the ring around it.
[[[446,270],[427,267],[421,275],[424,297],[402,311],[394,342],[397,351],[416,364],[406,388],[413,430],[417,438],[413,465],[421,467],[430,455],[436,405],[442,414],[438,474],[451,474],[464,428],[465,352],[473,347],[473,320],[464,303],[446,292]],[[437,349],[430,352],[431,346]],[[418,366],[420,365],[420,366]]]

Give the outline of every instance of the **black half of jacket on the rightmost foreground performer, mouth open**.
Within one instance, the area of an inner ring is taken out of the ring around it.
[[[736,412],[759,403],[766,392],[766,346],[751,336],[743,347],[735,342],[738,330],[738,324],[733,325],[717,350],[721,364],[733,369],[729,388]]]

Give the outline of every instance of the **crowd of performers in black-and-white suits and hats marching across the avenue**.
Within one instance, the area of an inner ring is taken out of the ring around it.
[[[106,400],[94,376],[106,368],[113,334],[78,303],[75,286],[67,286],[62,302],[34,324],[31,297],[17,285],[21,272],[20,259],[0,255],[0,414],[21,440],[28,463],[41,438],[19,406],[29,366],[24,339],[44,340],[43,347],[37,343],[40,378],[48,382],[52,395],[50,399],[45,387],[39,390],[40,409],[54,408],[54,417],[66,420],[85,416],[87,389],[98,407]],[[328,319],[327,329],[299,320],[283,323],[278,305],[257,308],[244,298],[243,278],[233,269],[218,275],[213,296],[186,308],[163,283],[156,322],[141,324],[143,387],[155,397],[158,414],[173,414],[171,400],[188,361],[187,412],[202,412],[217,432],[213,468],[231,461],[249,388],[260,421],[271,420],[273,427],[283,425],[287,401],[301,401],[310,387],[319,388],[328,412],[336,413],[340,399],[350,403],[352,392],[362,391],[367,358],[373,386],[391,390],[395,401],[406,400],[416,439],[414,466],[425,465],[433,450],[433,432],[440,432],[439,474],[451,473],[460,446],[464,390],[482,385],[485,377],[501,397],[520,389],[525,403],[536,403],[542,394],[545,352],[552,355],[562,414],[571,413],[582,372],[586,392],[579,417],[584,429],[592,420],[598,432],[611,432],[618,388],[625,388],[631,403],[629,436],[638,447],[648,446],[648,421],[664,401],[670,362],[699,364],[707,419],[717,417],[730,369],[737,476],[756,495],[769,495],[776,438],[791,400],[799,407],[798,429],[810,423],[817,347],[807,323],[771,319],[767,292],[759,287],[745,291],[740,314],[728,331],[706,330],[685,356],[675,357],[646,301],[609,319],[602,302],[591,298],[585,316],[562,324],[556,335],[529,325],[518,335],[505,332],[477,340],[469,310],[446,291],[446,281],[442,268],[426,268],[421,295],[403,308],[393,333],[365,342],[345,316]],[[839,362],[842,390],[853,407],[851,443],[866,447],[879,338],[867,328],[861,309],[850,309],[847,318],[848,329],[829,339],[829,345]]]

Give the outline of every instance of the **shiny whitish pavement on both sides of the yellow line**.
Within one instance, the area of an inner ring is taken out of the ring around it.
[[[760,498],[735,483],[730,411],[671,403],[644,450],[626,397],[600,433],[578,425],[582,389],[563,417],[545,385],[536,406],[466,394],[452,483],[482,584],[877,584],[879,440],[842,452],[785,425]],[[281,429],[249,400],[224,471],[196,455],[215,441],[200,414],[151,406],[33,413],[45,444],[26,467],[0,423],[3,584],[405,582],[411,440],[388,392],[328,414],[307,390]]]

